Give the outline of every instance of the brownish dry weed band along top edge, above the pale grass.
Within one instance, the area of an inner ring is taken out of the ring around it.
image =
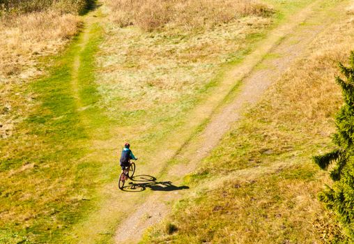
[[[265,16],[270,8],[247,0],[106,0],[111,19],[120,26],[135,25],[146,31],[164,26],[205,29],[239,17]]]

